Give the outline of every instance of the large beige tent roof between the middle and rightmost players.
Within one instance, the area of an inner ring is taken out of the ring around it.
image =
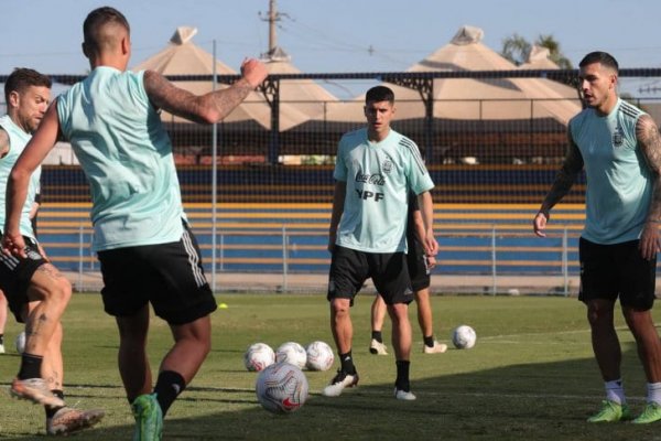
[[[479,72],[518,69],[514,64],[483,44],[483,36],[484,31],[479,28],[462,26],[449,43],[407,71],[476,74],[472,77],[433,80],[434,119],[485,121],[552,118],[566,125],[581,110],[576,90],[549,78],[479,76]],[[421,92],[395,84],[384,85],[394,92],[397,120],[425,117]],[[338,105],[328,111],[327,119],[365,120],[364,101],[365,95],[361,95],[344,106]]]

